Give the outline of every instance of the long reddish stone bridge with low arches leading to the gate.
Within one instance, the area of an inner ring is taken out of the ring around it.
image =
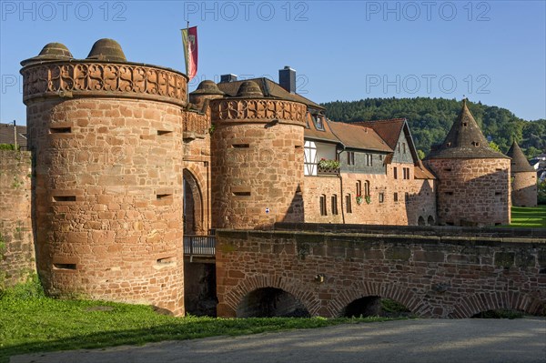
[[[423,318],[500,308],[546,314],[546,231],[312,226],[218,230],[217,316],[259,316],[273,306],[276,315],[333,318],[369,297]]]

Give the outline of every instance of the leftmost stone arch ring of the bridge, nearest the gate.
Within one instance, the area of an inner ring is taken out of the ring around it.
[[[278,277],[276,275],[259,275],[239,281],[237,286],[232,287],[227,292],[224,300],[218,303],[217,315],[235,318],[239,304],[248,293],[265,287],[278,288],[288,292],[288,294],[296,297],[301,302],[310,316],[319,316],[320,307],[316,303],[317,298],[313,291],[308,289],[306,285],[302,285],[300,280]]]

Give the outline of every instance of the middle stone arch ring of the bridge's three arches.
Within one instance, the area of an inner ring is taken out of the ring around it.
[[[355,300],[362,297],[386,297],[403,304],[410,312],[419,317],[430,317],[431,308],[428,302],[421,299],[406,287],[387,283],[369,283],[359,281],[341,291],[331,301],[336,316],[341,317],[344,309]]]

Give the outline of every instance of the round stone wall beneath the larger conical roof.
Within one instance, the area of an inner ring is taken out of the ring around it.
[[[510,159],[438,158],[426,163],[439,179],[440,224],[510,224]]]

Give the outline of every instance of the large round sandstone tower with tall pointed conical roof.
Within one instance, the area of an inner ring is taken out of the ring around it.
[[[466,99],[448,136],[425,162],[438,176],[440,225],[510,223],[510,158],[489,147]]]

